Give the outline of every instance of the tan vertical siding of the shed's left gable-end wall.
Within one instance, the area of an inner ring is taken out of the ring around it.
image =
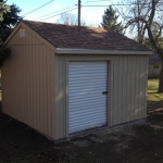
[[[2,111],[55,138],[54,52],[27,29],[25,37],[17,30],[8,47],[12,53],[2,67]]]

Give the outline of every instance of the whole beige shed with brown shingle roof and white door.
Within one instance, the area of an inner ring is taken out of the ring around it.
[[[112,30],[22,21],[4,42],[2,112],[53,139],[147,115],[148,54]]]

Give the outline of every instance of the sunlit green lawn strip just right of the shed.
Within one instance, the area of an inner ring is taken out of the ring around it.
[[[163,104],[163,93],[158,93],[159,79],[148,80],[148,103]]]

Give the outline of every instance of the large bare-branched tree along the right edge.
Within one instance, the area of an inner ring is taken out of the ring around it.
[[[163,0],[141,0],[131,4],[135,14],[125,15],[125,13],[122,13],[127,20],[125,28],[136,26],[138,28],[138,40],[141,43],[147,35],[152,49],[159,54],[163,63],[163,47],[162,41],[160,41],[163,30]],[[153,30],[154,28],[156,30]],[[163,92],[163,66],[160,73],[158,92]]]

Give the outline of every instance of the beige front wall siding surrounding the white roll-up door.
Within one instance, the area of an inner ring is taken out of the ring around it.
[[[66,60],[71,61],[110,61],[112,62],[112,70],[110,72],[113,75],[112,83],[112,125],[139,120],[146,117],[147,111],[147,60],[148,55],[87,55],[87,54],[70,54],[70,55],[57,55],[55,58],[55,126],[60,131],[58,138],[65,137],[66,125],[65,122],[66,110],[68,105],[65,105],[63,101],[66,99],[67,83],[62,80],[67,71],[65,68]],[[62,72],[62,73],[61,73]],[[110,115],[109,115],[110,116]],[[108,117],[109,118],[109,117]]]

